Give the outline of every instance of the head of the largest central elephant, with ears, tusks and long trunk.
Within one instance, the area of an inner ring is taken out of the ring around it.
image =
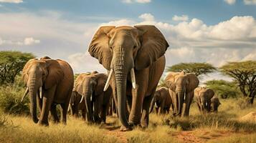
[[[168,46],[156,26],[102,26],[95,33],[88,51],[110,71],[105,89],[110,84],[112,74],[115,76],[118,117],[124,127],[129,127],[125,112],[126,84],[132,84],[135,89],[135,71],[153,64],[163,56]],[[131,74],[131,79],[128,74]]]

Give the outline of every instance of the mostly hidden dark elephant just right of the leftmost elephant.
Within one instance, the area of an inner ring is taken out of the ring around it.
[[[75,117],[79,117],[79,111],[82,111],[82,119],[85,120],[85,113],[86,113],[86,108],[85,108],[85,100],[82,100],[82,96],[78,94],[77,92],[73,91],[71,98],[70,98],[70,109],[71,109],[71,114]]]

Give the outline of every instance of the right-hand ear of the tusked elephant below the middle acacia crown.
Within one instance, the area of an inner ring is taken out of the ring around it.
[[[186,92],[192,92],[196,87],[198,87],[199,79],[196,74],[186,74],[188,84],[186,86]]]

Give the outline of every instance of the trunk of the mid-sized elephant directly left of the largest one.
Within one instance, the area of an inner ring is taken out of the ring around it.
[[[87,122],[93,122],[93,113],[92,113],[92,104],[91,104],[91,98],[93,91],[90,89],[90,81],[86,81],[85,88],[83,89],[83,97],[85,97],[85,107],[86,107],[86,118]]]

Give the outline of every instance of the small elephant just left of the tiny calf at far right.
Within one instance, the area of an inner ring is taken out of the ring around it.
[[[205,87],[197,87],[194,90],[194,97],[200,112],[210,112],[211,99],[214,97],[214,91]]]

